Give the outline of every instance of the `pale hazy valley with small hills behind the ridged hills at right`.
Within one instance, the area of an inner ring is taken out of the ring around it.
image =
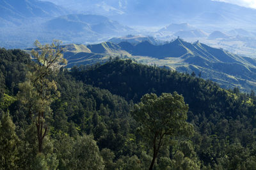
[[[225,23],[222,25],[225,25]],[[237,24],[236,27],[226,30],[221,28],[215,30],[205,30],[202,29],[202,27],[202,25],[190,25],[188,23],[170,24],[162,27],[159,29],[159,31],[152,33],[152,35],[157,39],[161,39],[162,41],[170,41],[170,39],[177,37],[183,38],[189,42],[199,40],[200,42],[209,46],[223,48],[238,55],[255,57],[255,30],[248,31],[239,27],[239,24]]]

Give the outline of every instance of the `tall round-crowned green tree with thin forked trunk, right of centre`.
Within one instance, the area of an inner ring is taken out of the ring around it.
[[[191,134],[193,126],[186,122],[188,104],[182,96],[174,92],[145,94],[141,102],[135,104],[132,116],[140,124],[141,134],[153,146],[153,158],[149,169],[153,169],[157,153],[168,138]]]

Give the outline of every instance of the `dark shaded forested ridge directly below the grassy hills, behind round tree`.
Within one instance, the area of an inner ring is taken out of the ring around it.
[[[224,90],[216,83],[175,71],[136,64],[131,60],[113,60],[100,66],[74,67],[76,80],[108,89],[137,103],[141,96],[154,92],[177,91],[189,104],[188,122],[195,125],[193,145],[202,167],[221,167],[227,148],[236,139],[250,152],[255,143],[255,93]],[[100,79],[99,79],[100,77]],[[138,139],[138,138],[137,138]],[[145,145],[142,150],[145,150]],[[175,148],[172,149],[175,154]],[[238,155],[238,153],[236,154]],[[244,159],[242,159],[244,160]],[[228,163],[229,164],[229,163]],[[240,163],[239,163],[240,164]]]

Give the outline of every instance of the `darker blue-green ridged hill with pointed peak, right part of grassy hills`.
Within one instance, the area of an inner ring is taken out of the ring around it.
[[[119,45],[132,55],[159,59],[156,61],[159,66],[173,67],[183,73],[201,73],[203,78],[216,81],[223,87],[239,86],[249,91],[256,87],[255,60],[234,55],[223,49],[212,48],[199,42],[188,43],[179,38],[158,46],[148,42],[135,46],[128,43]]]

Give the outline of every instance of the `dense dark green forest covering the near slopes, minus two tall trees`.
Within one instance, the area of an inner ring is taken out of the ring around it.
[[[254,92],[224,90],[196,76],[119,59],[47,76],[60,97],[45,117],[49,131],[38,153],[35,123],[17,97],[35,63],[20,50],[1,48],[0,55],[0,169],[148,169],[154,147],[131,111],[150,92],[172,93],[180,106],[188,104],[184,111],[195,131],[190,138],[164,138],[153,169],[256,168]]]

